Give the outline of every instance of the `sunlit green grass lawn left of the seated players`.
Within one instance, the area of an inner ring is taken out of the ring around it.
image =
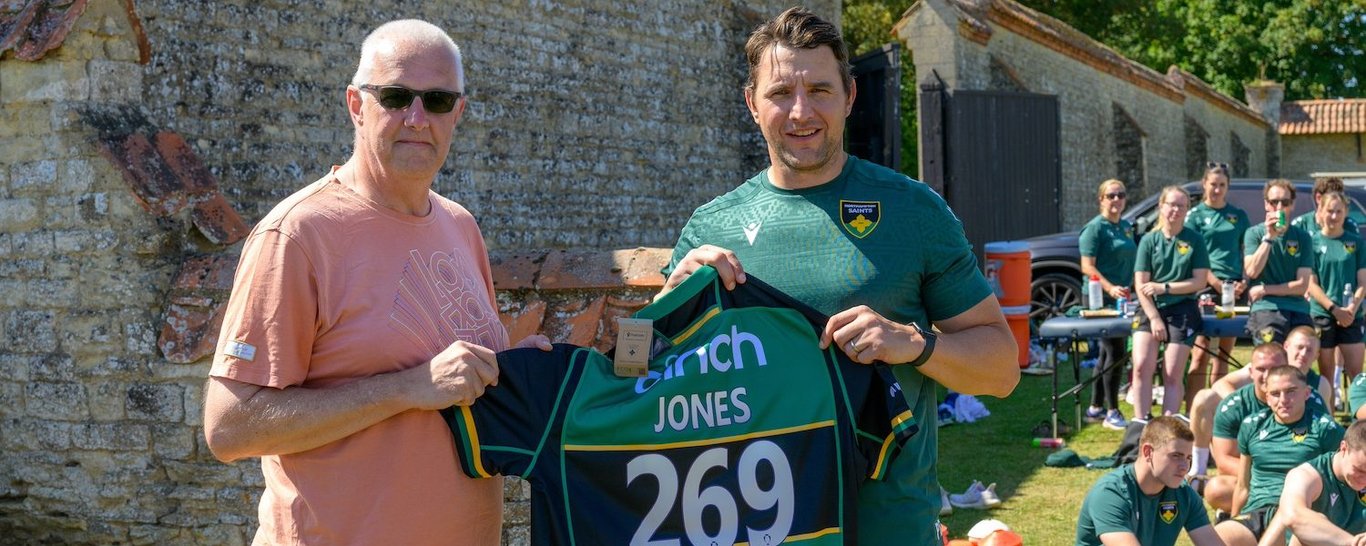
[[[1247,362],[1250,345],[1239,344],[1233,355]],[[1072,385],[1070,364],[1060,363],[1059,385],[1065,390]],[[1082,370],[1090,377],[1091,370]],[[953,509],[943,519],[949,536],[962,538],[979,520],[997,519],[1011,526],[1024,538],[1026,545],[1071,545],[1076,538],[1076,515],[1086,491],[1108,470],[1050,468],[1044,459],[1052,449],[1030,445],[1030,429],[1049,418],[1052,393],[1049,375],[1022,375],[1015,392],[1004,399],[981,397],[992,416],[970,425],[951,425],[940,429],[940,482],[949,493],[962,493],[974,479],[996,482],[1000,506],[990,511]],[[1090,400],[1090,389],[1082,392],[1082,404]],[[1126,416],[1132,408],[1124,405]],[[1071,399],[1060,403],[1059,414],[1074,433],[1067,435],[1067,446],[1087,457],[1111,455],[1119,446],[1121,431],[1105,430],[1098,423],[1075,430]],[[1183,535],[1177,545],[1190,545]]]

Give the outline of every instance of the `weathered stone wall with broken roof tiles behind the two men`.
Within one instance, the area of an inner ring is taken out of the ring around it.
[[[0,3],[0,543],[250,542],[260,467],[204,445],[217,313],[249,227],[347,157],[366,31],[449,29],[473,97],[436,191],[478,218],[512,339],[602,345],[663,281],[642,247],[766,161],[742,45],[787,5]]]

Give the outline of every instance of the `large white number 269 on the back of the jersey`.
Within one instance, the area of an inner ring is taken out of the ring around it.
[[[626,485],[637,482],[643,475],[653,476],[660,486],[658,497],[631,535],[631,546],[680,546],[679,539],[656,539],[660,524],[673,512],[676,505],[683,509],[683,526],[688,542],[694,545],[734,545],[739,534],[739,505],[735,494],[721,486],[702,487],[702,480],[713,468],[728,470],[729,450],[712,448],[699,455],[683,478],[679,491],[679,471],[673,461],[660,453],[645,453],[631,459],[626,465]],[[759,483],[759,465],[772,470],[773,483],[764,489]],[[736,463],[739,498],[754,511],[775,511],[769,528],[744,526],[750,545],[777,545],[787,539],[792,530],[794,486],[792,465],[777,444],[761,440],[750,444]],[[716,532],[709,532],[702,521],[703,512],[710,508],[720,516]]]

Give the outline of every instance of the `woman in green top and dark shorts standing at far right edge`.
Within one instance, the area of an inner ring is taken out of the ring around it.
[[[1309,283],[1309,315],[1318,329],[1318,373],[1335,385],[1347,385],[1362,371],[1362,285],[1366,284],[1366,248],[1361,233],[1347,231],[1347,197],[1328,192],[1318,199],[1314,231],[1314,274]],[[1339,351],[1333,351],[1333,348]],[[1337,355],[1343,355],[1343,381],[1335,381]]]

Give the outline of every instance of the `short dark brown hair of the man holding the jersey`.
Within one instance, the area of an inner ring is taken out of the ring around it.
[[[775,45],[792,49],[831,46],[835,60],[840,64],[840,81],[844,83],[844,91],[848,93],[852,89],[854,75],[850,70],[850,51],[844,45],[840,29],[803,7],[788,8],[750,33],[750,40],[744,42],[744,59],[750,63],[750,78],[744,82],[744,89],[754,89],[764,53]]]

